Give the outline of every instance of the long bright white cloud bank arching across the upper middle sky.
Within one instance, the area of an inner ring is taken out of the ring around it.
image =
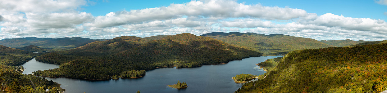
[[[146,8],[141,10],[119,11],[98,16],[94,22],[86,24],[93,27],[112,27],[123,24],[137,24],[144,21],[176,19],[182,16],[200,16],[209,19],[229,17],[251,17],[267,20],[289,20],[308,16],[302,9],[244,5],[230,0],[191,1],[171,4],[168,7]]]

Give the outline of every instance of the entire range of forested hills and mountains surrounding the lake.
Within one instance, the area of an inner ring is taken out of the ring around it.
[[[260,76],[266,78],[245,83],[235,92],[378,93],[387,89],[384,87],[387,85],[386,43],[317,41],[281,34],[239,32],[212,32],[201,36],[183,33],[144,38],[122,36],[110,40],[81,37],[2,39],[0,44],[17,49],[0,45],[0,81],[6,79],[7,83],[14,84],[16,80],[22,82],[19,87],[31,91],[34,90],[29,82],[34,81],[37,86],[55,86],[63,91],[53,81],[17,72],[21,70],[16,66],[34,57],[40,62],[60,64],[60,68],[34,72],[37,75],[112,79],[141,77],[145,75],[145,70],[155,68],[190,68],[282,54],[285,56],[269,59],[270,64],[264,62],[259,65],[270,66],[264,67],[269,71]],[[70,50],[33,53],[46,51],[41,47]],[[12,84],[12,88],[18,86]]]

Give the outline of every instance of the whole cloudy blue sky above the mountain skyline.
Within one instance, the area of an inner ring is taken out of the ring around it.
[[[387,0],[0,0],[0,39],[209,32],[387,40]]]

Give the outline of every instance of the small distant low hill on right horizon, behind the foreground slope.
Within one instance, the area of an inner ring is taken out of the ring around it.
[[[351,45],[355,45],[363,42],[372,42],[372,41],[353,41],[353,40],[346,39],[346,40],[332,40],[332,41],[322,40],[320,42],[323,42],[325,44],[329,44],[332,46],[336,46],[336,47],[344,47],[344,46],[351,46]]]

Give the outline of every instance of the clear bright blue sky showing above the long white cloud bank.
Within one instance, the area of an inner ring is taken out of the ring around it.
[[[99,0],[94,5],[82,7],[82,11],[94,16],[106,15],[120,10],[139,10],[169,6],[171,3],[187,3],[191,0]],[[149,3],[152,2],[152,3]],[[386,5],[377,4],[372,0],[238,0],[238,3],[261,4],[264,6],[278,6],[299,8],[309,13],[322,15],[332,13],[353,18],[387,19],[384,12]]]

